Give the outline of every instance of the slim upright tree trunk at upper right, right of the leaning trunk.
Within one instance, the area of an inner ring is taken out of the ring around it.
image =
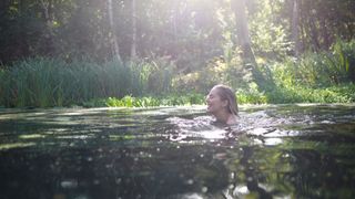
[[[293,0],[293,9],[292,9],[292,41],[294,43],[294,55],[296,57],[300,56],[300,27],[298,21],[298,2],[297,0]]]

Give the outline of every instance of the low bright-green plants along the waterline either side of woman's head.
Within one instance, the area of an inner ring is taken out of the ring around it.
[[[274,92],[261,93],[240,90],[236,93],[239,104],[288,104],[288,103],[354,103],[355,84],[326,88],[280,87]],[[122,98],[108,97],[82,103],[84,107],[150,107],[205,104],[205,94],[170,94],[165,96]]]

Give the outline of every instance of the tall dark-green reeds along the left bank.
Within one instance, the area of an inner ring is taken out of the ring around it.
[[[166,75],[154,75],[156,67],[156,63],[143,61],[122,63],[113,60],[100,64],[90,60],[65,63],[47,57],[18,61],[0,71],[0,105],[80,105],[92,98],[142,95],[152,90],[149,87],[152,81],[166,91],[170,81],[161,81]]]

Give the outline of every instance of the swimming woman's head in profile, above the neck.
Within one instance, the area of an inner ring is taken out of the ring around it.
[[[225,109],[230,114],[237,115],[236,97],[229,86],[219,84],[212,87],[206,97],[206,103],[207,111],[212,114]]]

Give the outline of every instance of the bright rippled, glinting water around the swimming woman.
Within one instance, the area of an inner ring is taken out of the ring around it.
[[[232,126],[220,124],[212,116],[193,118],[174,116],[166,118],[166,121],[175,127],[170,132],[170,139],[174,142],[192,138],[233,139],[241,135],[268,138],[296,136],[300,135],[300,132],[285,129],[285,126],[312,123],[312,118],[307,115],[278,117],[266,111],[241,113],[239,124]]]

